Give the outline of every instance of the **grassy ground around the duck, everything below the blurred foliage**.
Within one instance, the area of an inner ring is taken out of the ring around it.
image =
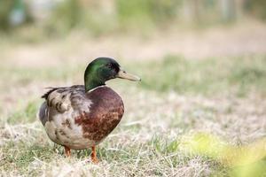
[[[2,41],[0,173],[265,175],[265,149],[256,147],[259,142],[265,145],[266,27],[253,25],[258,27],[88,40],[73,34],[27,44]],[[126,111],[98,146],[98,165],[90,163],[90,150],[73,150],[66,158],[36,118],[43,88],[81,84],[84,68],[96,56],[119,58],[124,69],[142,78],[141,83],[108,81],[123,98]],[[239,149],[248,154],[252,147],[261,156],[247,163],[231,155]]]

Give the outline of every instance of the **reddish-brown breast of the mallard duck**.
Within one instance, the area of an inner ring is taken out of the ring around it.
[[[101,142],[118,125],[124,113],[121,97],[108,87],[87,93],[92,102],[90,112],[81,112],[74,123],[82,126],[83,137]]]

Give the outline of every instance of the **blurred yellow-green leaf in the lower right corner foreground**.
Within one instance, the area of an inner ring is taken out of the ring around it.
[[[231,177],[262,177],[266,174],[265,139],[237,147],[229,145],[218,136],[198,133],[184,138],[180,144],[181,150],[215,158],[227,165]]]

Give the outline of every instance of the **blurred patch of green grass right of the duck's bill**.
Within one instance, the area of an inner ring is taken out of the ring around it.
[[[266,57],[207,58],[190,60],[167,56],[160,62],[146,62],[131,69],[143,78],[141,87],[158,92],[215,95],[235,92],[246,96],[252,90],[266,93]],[[148,68],[148,69],[146,69]]]

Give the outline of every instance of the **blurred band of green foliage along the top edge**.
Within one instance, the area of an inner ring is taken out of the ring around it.
[[[0,29],[12,28],[10,15],[18,2],[23,3],[26,21],[33,14],[28,11],[29,2],[22,0],[0,1]],[[53,2],[51,11],[43,19],[37,20],[43,32],[48,35],[64,35],[74,28],[91,35],[121,32],[121,30],[142,31],[151,28],[165,28],[168,25],[192,24],[208,26],[236,19],[245,13],[259,19],[266,19],[264,0],[113,0],[106,5],[103,1],[64,0]],[[110,5],[111,4],[111,5]],[[21,6],[21,5],[20,5]],[[40,12],[42,13],[42,12]]]

